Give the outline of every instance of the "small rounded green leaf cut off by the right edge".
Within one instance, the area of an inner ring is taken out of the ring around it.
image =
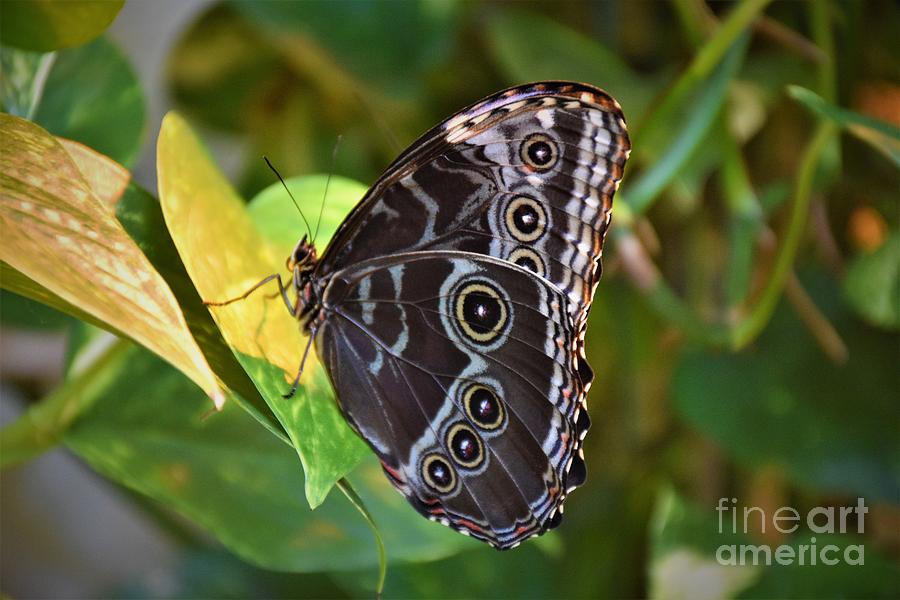
[[[869,323],[900,329],[900,232],[872,254],[853,259],[844,278],[844,296]]]

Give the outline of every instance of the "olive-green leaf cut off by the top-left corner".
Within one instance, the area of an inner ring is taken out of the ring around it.
[[[4,46],[48,52],[80,46],[109,27],[125,0],[3,0]]]

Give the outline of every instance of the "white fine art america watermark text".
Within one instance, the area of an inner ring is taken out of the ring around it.
[[[817,506],[805,514],[791,506],[782,506],[767,514],[759,506],[739,507],[736,498],[719,498],[716,512],[719,513],[720,534],[748,533],[747,522],[751,518],[759,519],[762,534],[767,533],[767,526],[781,534],[795,533],[802,526],[810,532],[805,540],[807,543],[800,544],[722,544],[716,550],[716,560],[721,565],[865,564],[863,544],[822,544],[815,537],[816,534],[863,533],[869,508],[862,498],[857,498],[855,506]]]

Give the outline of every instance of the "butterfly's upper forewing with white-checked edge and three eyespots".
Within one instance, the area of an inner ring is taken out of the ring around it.
[[[630,142],[619,105],[585,84],[491,96],[404,152],[346,219],[323,271],[377,256],[462,250],[559,287],[583,332]]]

